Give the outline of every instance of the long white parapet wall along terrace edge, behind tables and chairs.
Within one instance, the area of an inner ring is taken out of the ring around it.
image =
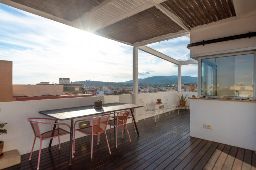
[[[156,102],[158,98],[171,101],[173,99],[178,101],[176,94],[179,92],[160,92],[138,94],[138,99],[143,98],[145,103]],[[184,92],[186,94],[186,92]],[[195,94],[195,93],[193,93]],[[188,96],[191,96],[189,94]],[[78,107],[85,105],[93,105],[97,99],[103,99],[104,103],[123,102],[132,103],[132,95],[113,95],[113,96],[97,96],[97,97],[81,97],[81,98],[64,98],[64,99],[47,99],[47,100],[32,100],[32,101],[15,101],[15,102],[0,102],[0,123],[8,123],[5,126],[7,134],[0,136],[0,140],[4,141],[4,150],[9,151],[17,149],[20,154],[26,154],[31,151],[31,146],[34,139],[32,128],[27,121],[29,117],[45,117],[39,114],[39,111],[52,110],[60,108]],[[139,103],[139,101],[137,102]],[[189,103],[188,103],[189,104]],[[141,120],[144,118],[144,108],[136,109],[136,119]],[[87,117],[89,118],[89,117]],[[70,121],[62,121],[62,123],[70,124]],[[44,129],[50,130],[50,129]],[[81,135],[82,136],[82,135]],[[79,134],[77,137],[81,137]],[[61,142],[69,141],[69,136],[61,137]],[[43,142],[42,148],[48,147],[47,141]],[[56,145],[57,140],[53,140],[52,145]],[[36,141],[34,150],[39,149],[39,142]]]

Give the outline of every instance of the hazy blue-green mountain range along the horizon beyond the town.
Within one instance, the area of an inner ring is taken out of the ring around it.
[[[85,81],[75,81],[73,84],[81,83],[83,85],[88,86],[95,86],[95,87],[101,87],[103,85],[114,85],[119,87],[124,86],[132,86],[133,80],[126,81],[126,82],[103,82],[103,81],[91,81],[91,80],[85,80]],[[157,85],[157,84],[177,84],[178,83],[178,76],[177,75],[171,75],[171,76],[153,76],[148,78],[139,78],[138,79],[139,85]],[[183,84],[193,84],[197,83],[197,77],[191,77],[191,76],[181,76],[181,83]]]

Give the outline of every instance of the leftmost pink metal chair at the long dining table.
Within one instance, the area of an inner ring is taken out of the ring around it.
[[[34,139],[32,149],[31,149],[29,160],[31,160],[31,156],[32,156],[32,152],[33,152],[33,149],[34,149],[36,138],[40,139],[40,147],[39,147],[38,162],[37,162],[37,169],[39,169],[42,141],[58,137],[58,139],[59,139],[59,149],[60,149],[60,136],[70,134],[70,132],[69,132],[70,131],[70,126],[68,124],[58,123],[56,120],[54,120],[52,118],[28,118],[27,120],[30,122],[31,127],[34,131],[34,134],[35,134],[35,139]],[[41,120],[41,121],[37,121],[37,120]],[[47,120],[47,121],[52,120],[54,123],[43,122],[42,120]],[[40,128],[39,128],[39,124],[57,125],[57,128],[54,129],[54,130],[50,130],[50,131],[41,133]],[[68,126],[69,131],[66,131],[62,128],[59,128],[59,125]]]

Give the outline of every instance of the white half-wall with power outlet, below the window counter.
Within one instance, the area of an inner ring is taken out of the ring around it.
[[[256,103],[190,99],[190,135],[256,150]],[[203,124],[212,129],[203,128]]]

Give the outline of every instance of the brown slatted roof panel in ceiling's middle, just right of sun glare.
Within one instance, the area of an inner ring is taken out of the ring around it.
[[[180,30],[182,28],[169,17],[156,7],[151,7],[100,29],[97,33],[133,44],[154,37],[176,33]]]

